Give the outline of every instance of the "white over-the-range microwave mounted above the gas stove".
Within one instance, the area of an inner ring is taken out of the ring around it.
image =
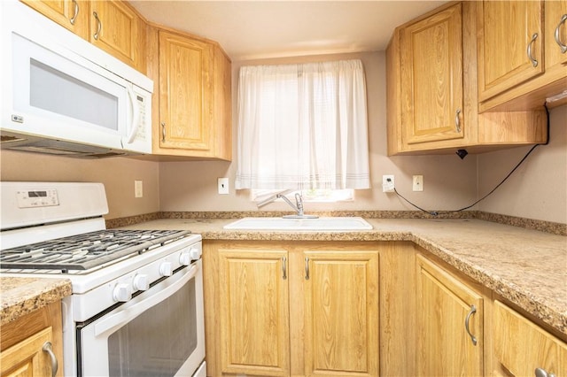
[[[3,149],[151,153],[153,81],[19,1],[0,21]]]

